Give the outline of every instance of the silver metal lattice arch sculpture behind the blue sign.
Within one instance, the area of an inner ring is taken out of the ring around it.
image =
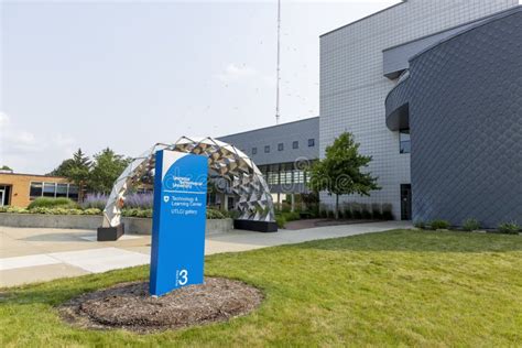
[[[213,138],[182,137],[174,144],[156,143],[141,156],[132,160],[115,182],[104,209],[104,227],[120,225],[127,192],[154,170],[154,154],[160,150],[206,155],[210,173],[227,178],[231,193],[239,197],[236,205],[241,211],[239,219],[268,222],[275,220],[269,186],[249,156],[235,146]]]

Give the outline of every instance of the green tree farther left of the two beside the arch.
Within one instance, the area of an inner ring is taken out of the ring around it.
[[[50,174],[67,177],[72,183],[76,184],[79,187],[79,198],[81,199],[84,187],[88,185],[91,165],[93,163],[89,157],[81,149],[78,149],[78,151],[73,153],[72,159],[64,160]]]

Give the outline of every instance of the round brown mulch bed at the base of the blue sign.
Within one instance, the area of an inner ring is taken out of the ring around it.
[[[133,282],[83,294],[63,304],[59,313],[83,328],[149,333],[226,322],[252,312],[262,300],[258,289],[224,278],[205,278],[203,285],[156,298],[149,295],[149,282]]]

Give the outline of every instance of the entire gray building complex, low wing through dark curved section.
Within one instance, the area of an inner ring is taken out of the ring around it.
[[[392,204],[398,219],[522,222],[520,11],[519,0],[407,0],[338,28],[319,40],[319,118],[220,140],[280,198],[306,192],[297,159],[349,131],[382,189],[341,203]]]

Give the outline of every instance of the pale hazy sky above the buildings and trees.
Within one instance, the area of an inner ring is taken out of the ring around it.
[[[276,1],[0,2],[0,166],[275,124]],[[319,35],[398,2],[282,1],[281,122],[318,116]]]

